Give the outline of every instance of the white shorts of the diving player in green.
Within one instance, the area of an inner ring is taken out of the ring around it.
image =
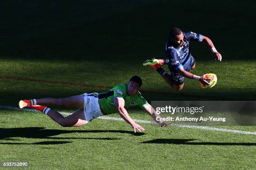
[[[84,116],[86,123],[99,116],[103,116],[102,112],[100,111],[100,105],[98,102],[99,99],[93,94],[98,95],[97,92],[91,94],[82,94],[82,96],[84,96]]]

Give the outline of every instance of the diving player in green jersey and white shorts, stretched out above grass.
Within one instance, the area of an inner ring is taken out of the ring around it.
[[[128,122],[134,132],[136,130],[145,130],[141,125],[138,125],[128,115],[126,109],[132,106],[139,106],[148,112],[149,115],[159,123],[161,127],[165,127],[170,122],[158,121],[154,108],[141,96],[139,92],[142,85],[142,80],[138,76],[133,76],[128,83],[117,85],[105,93],[84,93],[82,95],[75,95],[67,98],[41,98],[31,100],[20,100],[19,106],[30,107],[43,112],[51,117],[52,120],[59,123],[63,127],[81,126],[85,125],[91,120],[102,116],[118,112],[120,116]],[[44,105],[53,105],[63,108],[78,108],[72,115],[67,117],[62,116],[59,112],[51,110]]]

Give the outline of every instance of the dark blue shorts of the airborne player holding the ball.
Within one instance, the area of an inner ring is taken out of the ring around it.
[[[187,65],[183,66],[184,70],[189,72],[191,70],[191,67],[195,64],[194,57],[191,56],[191,62]],[[171,77],[172,77],[172,83],[174,85],[182,85],[184,83],[184,77],[179,74],[177,70],[170,70],[171,71]]]

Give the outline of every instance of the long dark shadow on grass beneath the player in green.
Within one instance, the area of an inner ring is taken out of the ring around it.
[[[53,130],[42,127],[30,128],[0,128],[0,140],[8,138],[37,138],[37,139],[99,139],[99,140],[118,140],[118,138],[60,138],[52,137],[67,133],[127,133],[131,135],[145,135],[145,133],[133,133],[125,130]],[[11,140],[11,139],[10,139]]]

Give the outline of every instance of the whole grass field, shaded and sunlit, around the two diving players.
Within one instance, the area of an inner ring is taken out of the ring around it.
[[[142,78],[141,93],[148,102],[256,100],[255,5],[250,0],[0,2],[0,108],[18,107],[25,98],[105,92],[133,75]],[[172,27],[212,39],[223,61],[213,61],[204,43],[192,42],[197,65],[192,73],[215,73],[215,87],[205,90],[186,79],[176,92],[142,66],[146,59],[165,58]],[[128,112],[151,120],[141,110]],[[136,135],[117,120],[62,128],[38,112],[2,108],[0,162],[25,161],[40,170],[256,167],[255,135],[140,124],[146,131]],[[255,126],[216,128],[256,131]]]

